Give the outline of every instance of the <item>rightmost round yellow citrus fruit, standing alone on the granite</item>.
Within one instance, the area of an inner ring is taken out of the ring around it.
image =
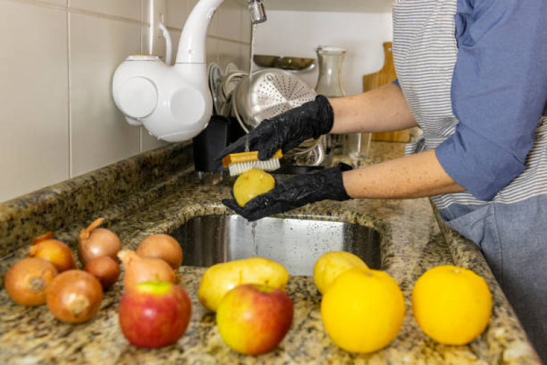
[[[457,266],[427,270],[414,284],[416,322],[442,344],[467,344],[481,333],[492,313],[492,294],[484,279]]]

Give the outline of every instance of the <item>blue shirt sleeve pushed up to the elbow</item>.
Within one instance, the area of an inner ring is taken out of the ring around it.
[[[546,3],[457,1],[451,99],[459,123],[435,154],[476,199],[492,199],[526,168],[547,100]]]

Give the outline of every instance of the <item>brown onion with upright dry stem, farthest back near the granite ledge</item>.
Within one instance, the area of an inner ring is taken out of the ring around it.
[[[78,257],[82,265],[97,257],[110,256],[116,260],[116,253],[122,249],[120,239],[113,231],[97,228],[104,219],[99,218],[80,231]]]

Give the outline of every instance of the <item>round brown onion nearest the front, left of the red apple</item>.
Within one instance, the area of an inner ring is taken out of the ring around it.
[[[58,320],[82,323],[99,310],[103,288],[84,270],[68,270],[53,279],[47,290],[47,307]]]

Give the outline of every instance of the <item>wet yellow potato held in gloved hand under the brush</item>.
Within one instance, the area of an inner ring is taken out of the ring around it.
[[[275,187],[275,179],[272,175],[262,170],[253,168],[242,173],[233,184],[233,197],[242,207],[248,201],[272,190]]]

